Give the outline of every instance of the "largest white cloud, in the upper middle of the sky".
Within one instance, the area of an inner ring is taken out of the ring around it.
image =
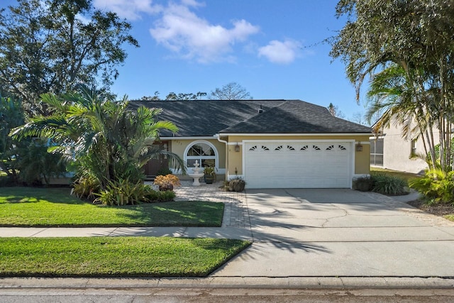
[[[207,63],[233,60],[232,46],[259,31],[258,26],[245,20],[233,21],[231,28],[211,24],[189,10],[189,6],[200,5],[194,0],[170,3],[162,9],[150,34],[177,55]]]

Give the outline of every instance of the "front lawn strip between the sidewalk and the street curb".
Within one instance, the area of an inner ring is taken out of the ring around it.
[[[249,245],[212,238],[0,238],[0,276],[204,277]]]

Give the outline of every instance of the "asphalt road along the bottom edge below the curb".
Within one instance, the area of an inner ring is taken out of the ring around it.
[[[0,290],[3,303],[140,302],[453,302],[454,290],[26,289]]]

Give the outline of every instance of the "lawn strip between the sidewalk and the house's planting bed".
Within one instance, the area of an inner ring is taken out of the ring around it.
[[[0,188],[0,226],[221,226],[223,208],[214,202],[102,206],[68,188]]]

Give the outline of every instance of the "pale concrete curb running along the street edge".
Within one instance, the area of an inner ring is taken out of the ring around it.
[[[1,290],[25,289],[450,289],[448,277],[163,277],[163,278],[73,278],[3,277]]]

